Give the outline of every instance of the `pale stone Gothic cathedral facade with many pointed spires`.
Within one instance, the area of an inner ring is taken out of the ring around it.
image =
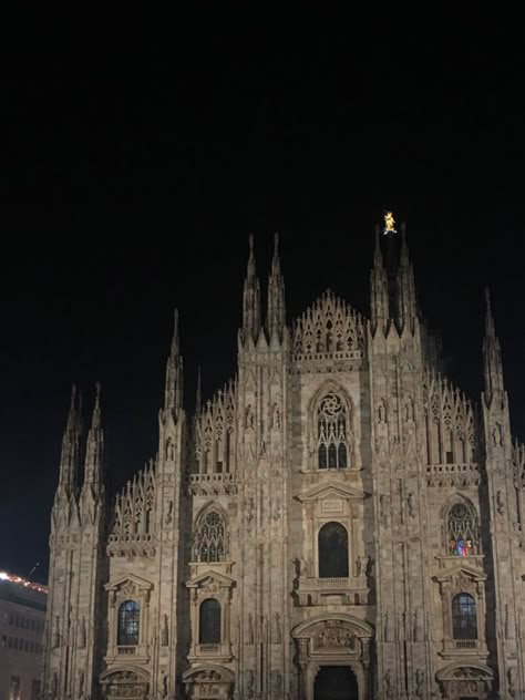
[[[478,405],[440,372],[404,230],[370,319],[292,326],[253,243],[238,370],[183,405],[177,317],[158,453],[110,502],[99,395],[73,392],[50,536],[51,700],[525,697],[525,450],[487,298]],[[82,464],[81,462],[82,455]]]

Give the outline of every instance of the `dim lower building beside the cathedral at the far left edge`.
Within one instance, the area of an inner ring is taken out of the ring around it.
[[[0,700],[39,700],[48,588],[0,572]]]

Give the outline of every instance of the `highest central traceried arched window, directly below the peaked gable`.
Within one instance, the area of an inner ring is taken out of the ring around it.
[[[347,409],[340,397],[330,392],[317,412],[318,456],[320,470],[348,466]]]

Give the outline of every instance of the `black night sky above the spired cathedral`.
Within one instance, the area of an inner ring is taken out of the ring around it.
[[[250,231],[264,288],[280,234],[289,319],[327,287],[368,313],[392,208],[474,399],[491,287],[525,437],[522,22],[351,8],[6,12],[0,568],[47,578],[73,381],[116,488],[156,451],[175,306],[188,405],[197,366],[205,397],[234,373]]]

